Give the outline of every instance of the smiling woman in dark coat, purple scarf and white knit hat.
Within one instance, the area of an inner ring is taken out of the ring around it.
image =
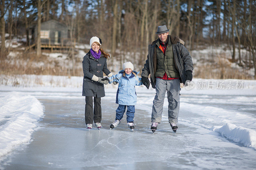
[[[106,53],[101,46],[101,39],[92,37],[90,40],[90,51],[84,56],[83,71],[83,96],[85,96],[85,123],[87,129],[92,129],[94,121],[97,128],[101,128],[101,106],[100,98],[105,96],[104,84],[108,84],[109,79],[103,78],[103,72],[108,77],[113,74],[107,68]],[[94,108],[92,111],[92,97],[94,97]]]

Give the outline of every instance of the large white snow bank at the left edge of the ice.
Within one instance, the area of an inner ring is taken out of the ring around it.
[[[42,104],[33,96],[11,92],[0,98],[0,157],[26,143],[44,114]]]

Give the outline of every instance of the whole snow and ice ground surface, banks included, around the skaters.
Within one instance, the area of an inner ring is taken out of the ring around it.
[[[170,129],[165,98],[162,123],[152,134],[155,90],[151,87],[136,87],[135,130],[130,132],[125,116],[120,126],[109,130],[115,119],[117,86],[106,85],[101,99],[103,128],[89,131],[84,123],[82,78],[37,79],[41,84],[20,81],[12,87],[10,79],[0,86],[0,169],[256,167],[254,80],[193,79],[193,86],[180,91],[177,133]]]

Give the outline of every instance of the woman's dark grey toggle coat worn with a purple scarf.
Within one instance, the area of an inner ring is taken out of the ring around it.
[[[95,59],[91,52],[89,51],[83,60],[83,71],[84,71],[84,81],[83,81],[83,96],[93,96],[93,97],[104,97],[105,90],[104,84],[92,80],[92,76],[103,78],[103,72],[108,75],[111,72],[107,67],[107,58],[103,54],[100,55],[99,59]]]

